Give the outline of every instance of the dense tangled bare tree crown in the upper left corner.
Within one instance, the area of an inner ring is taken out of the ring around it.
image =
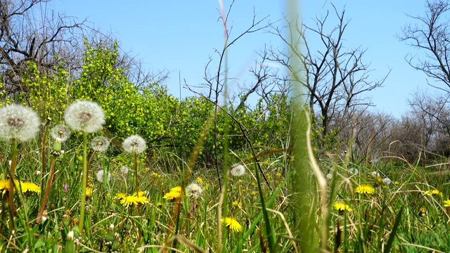
[[[6,93],[24,91],[20,74],[34,61],[42,72],[72,63],[84,22],[47,13],[46,0],[0,0],[0,74]],[[41,13],[39,21],[34,13]]]

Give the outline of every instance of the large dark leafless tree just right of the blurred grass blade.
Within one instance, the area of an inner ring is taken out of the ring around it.
[[[338,24],[330,31],[326,30],[328,12],[324,18],[316,18],[314,27],[299,23],[289,25],[288,27],[296,27],[297,32],[302,34],[297,41],[286,39],[283,29],[275,28],[273,31],[291,48],[304,45],[305,54],[297,57],[300,57],[304,64],[307,103],[319,122],[323,142],[333,122],[349,122],[354,111],[352,108],[367,108],[372,105],[368,98],[361,95],[382,86],[389,74],[378,81],[368,79],[370,65],[363,61],[366,49],[345,48],[344,34],[349,21],[345,20],[345,10],[338,12],[334,5],[333,10]],[[293,34],[293,31],[288,33]],[[311,43],[310,39],[317,39],[317,43]],[[271,60],[281,63],[291,72],[295,71],[290,65],[290,56],[283,51],[273,51]],[[315,113],[317,110],[319,112]]]

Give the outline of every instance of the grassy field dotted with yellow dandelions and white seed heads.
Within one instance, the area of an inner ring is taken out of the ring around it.
[[[77,103],[69,128],[0,108],[0,252],[450,251],[446,162],[348,152],[298,169],[295,153],[276,150],[259,167],[230,157],[220,186],[195,156],[149,158],[139,136],[122,146],[95,137],[101,108]]]

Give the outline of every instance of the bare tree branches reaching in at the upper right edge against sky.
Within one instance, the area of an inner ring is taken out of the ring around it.
[[[410,53],[406,61],[444,86],[433,85],[442,91],[450,92],[450,23],[447,13],[449,1],[427,1],[425,16],[408,15],[416,24],[406,25],[399,36],[401,41],[425,53],[423,57]]]

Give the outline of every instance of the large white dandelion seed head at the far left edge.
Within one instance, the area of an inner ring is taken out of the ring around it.
[[[41,122],[32,108],[11,104],[0,108],[0,138],[30,141],[39,132]]]

